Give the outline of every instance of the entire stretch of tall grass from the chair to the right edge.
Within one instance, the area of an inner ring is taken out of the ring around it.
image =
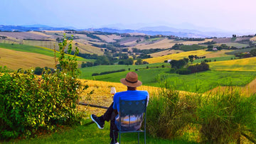
[[[242,96],[238,87],[206,94],[182,93],[169,79],[149,99],[147,130],[161,138],[194,135],[201,143],[250,142],[255,138],[256,94]]]

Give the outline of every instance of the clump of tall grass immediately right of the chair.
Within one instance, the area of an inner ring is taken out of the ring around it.
[[[179,94],[169,80],[161,83],[161,90],[149,99],[147,129],[151,135],[176,138],[193,121],[198,94]]]

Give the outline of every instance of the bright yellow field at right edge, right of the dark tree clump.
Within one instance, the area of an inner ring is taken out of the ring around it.
[[[256,71],[256,57],[209,62],[208,64],[211,70]]]

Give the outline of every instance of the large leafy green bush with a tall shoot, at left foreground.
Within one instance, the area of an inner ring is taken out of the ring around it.
[[[72,50],[64,39],[60,47],[60,70],[43,71],[41,78],[33,70],[8,72],[0,68],[0,139],[31,136],[37,131],[50,131],[58,125],[80,120],[76,109],[81,89],[75,55],[65,58],[64,49]]]

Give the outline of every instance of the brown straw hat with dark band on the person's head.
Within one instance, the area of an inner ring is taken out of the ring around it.
[[[142,82],[138,80],[138,74],[135,72],[128,72],[127,77],[120,79],[120,82],[127,87],[139,87],[142,85]]]

